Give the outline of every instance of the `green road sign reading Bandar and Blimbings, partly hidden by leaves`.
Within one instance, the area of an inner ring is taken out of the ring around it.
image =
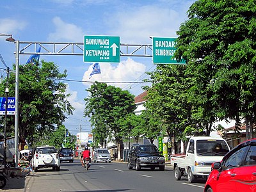
[[[153,63],[186,64],[185,60],[177,61],[173,58],[176,51],[177,38],[153,37]]]

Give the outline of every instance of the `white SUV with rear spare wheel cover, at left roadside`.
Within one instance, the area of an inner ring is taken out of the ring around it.
[[[31,164],[35,172],[49,167],[56,172],[60,171],[60,158],[55,147],[36,147]]]

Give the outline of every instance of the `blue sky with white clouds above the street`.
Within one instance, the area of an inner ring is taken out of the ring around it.
[[[12,34],[20,42],[83,43],[84,35],[120,36],[122,44],[151,44],[150,36],[177,37],[176,31],[187,18],[190,0],[8,0],[0,1],[0,33]],[[15,44],[0,36],[0,54],[6,65],[15,63]],[[20,65],[28,60],[20,55]],[[92,83],[114,82],[122,90],[137,96],[143,92],[140,83],[156,68],[152,58],[121,57],[120,63],[100,63],[101,74],[89,79],[93,63],[84,63],[83,56],[47,56],[40,60],[53,61],[60,72],[67,70],[68,100],[76,110],[68,116],[65,126],[72,134],[90,132],[92,127],[84,118],[86,89]],[[4,68],[0,62],[0,67]],[[1,72],[6,76],[4,72]],[[120,84],[120,82],[134,82]]]

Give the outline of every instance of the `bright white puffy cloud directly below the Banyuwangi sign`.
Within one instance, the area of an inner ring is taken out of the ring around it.
[[[95,74],[89,79],[92,72],[92,65],[84,72],[83,81],[100,81],[100,82],[128,82],[134,81],[146,71],[146,66],[142,63],[138,63],[131,58],[127,58],[125,61],[118,63],[116,67],[110,63],[100,63],[101,74]],[[111,83],[108,83],[109,85]],[[88,86],[88,83],[84,83]],[[124,88],[127,84],[115,83],[111,84]]]

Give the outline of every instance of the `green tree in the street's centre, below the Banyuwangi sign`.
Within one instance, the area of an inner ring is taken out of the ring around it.
[[[108,138],[115,141],[120,159],[120,147],[127,134],[127,126],[123,124],[124,118],[136,109],[134,95],[97,81],[87,91],[91,95],[90,98],[84,99],[86,101],[84,115],[90,117],[94,129],[103,128],[102,131],[108,135]]]

